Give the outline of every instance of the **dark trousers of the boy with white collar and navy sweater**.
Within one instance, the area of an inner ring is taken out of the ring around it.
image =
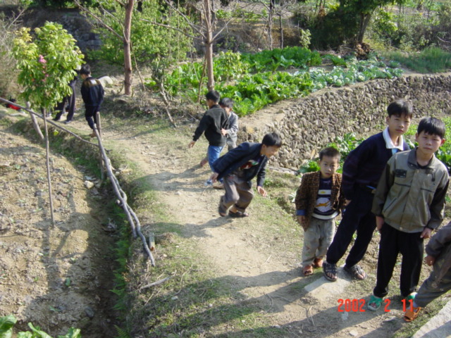
[[[346,258],[346,265],[351,267],[362,261],[376,229],[376,216],[371,213],[373,194],[364,188],[357,188],[354,199],[347,205],[343,218],[338,225],[335,237],[327,251],[327,262],[336,264],[350,245],[352,235],[357,237]]]

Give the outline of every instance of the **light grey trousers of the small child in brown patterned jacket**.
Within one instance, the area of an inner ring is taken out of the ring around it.
[[[309,227],[304,231],[302,265],[311,265],[315,258],[324,258],[335,234],[335,218],[319,220],[312,217]]]

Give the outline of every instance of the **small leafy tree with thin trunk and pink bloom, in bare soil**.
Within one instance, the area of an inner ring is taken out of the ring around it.
[[[56,106],[70,94],[68,83],[75,76],[75,69],[82,64],[83,55],[75,45],[75,39],[62,25],[45,23],[35,28],[35,38],[30,28],[21,28],[14,39],[13,56],[20,71],[18,83],[23,86],[22,96],[35,107],[44,109],[44,128],[47,159],[47,181],[51,222],[55,224],[49,167],[49,133],[46,111]]]

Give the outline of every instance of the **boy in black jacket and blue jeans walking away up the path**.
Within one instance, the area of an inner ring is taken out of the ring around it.
[[[211,90],[206,93],[206,105],[209,109],[204,113],[202,119],[199,122],[196,130],[194,131],[194,136],[192,141],[188,144],[188,148],[192,148],[196,144],[199,137],[205,132],[205,137],[209,142],[209,147],[207,149],[207,157],[209,165],[212,171],[214,168],[212,164],[216,161],[223,150],[224,144],[226,144],[226,137],[224,137],[221,130],[227,125],[227,114],[223,108],[218,105],[220,94],[216,90]],[[201,161],[202,166],[202,161]]]

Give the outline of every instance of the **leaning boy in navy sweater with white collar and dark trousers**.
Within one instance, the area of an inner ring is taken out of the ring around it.
[[[346,211],[323,263],[324,277],[331,282],[337,280],[337,263],[345,254],[356,231],[357,237],[346,258],[344,269],[357,280],[366,278],[366,273],[358,263],[364,257],[376,228],[376,220],[371,213],[373,192],[388,159],[397,151],[409,149],[402,134],[409,129],[412,104],[398,99],[388,105],[387,113],[385,123],[388,127],[351,151],[343,165],[342,192],[346,199]]]

